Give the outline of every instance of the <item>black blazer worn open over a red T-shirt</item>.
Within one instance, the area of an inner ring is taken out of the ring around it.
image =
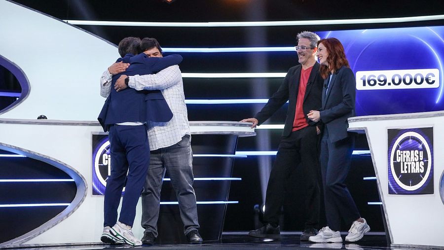
[[[270,118],[270,116],[282,107],[282,105],[289,101],[287,119],[285,120],[284,131],[282,132],[283,137],[290,136],[293,129],[301,69],[301,65],[290,68],[279,89],[271,96],[267,104],[255,115],[255,118],[258,119],[260,125]],[[316,123],[308,119],[307,114],[310,110],[319,110],[321,108],[323,83],[324,79],[322,79],[319,74],[319,63],[316,62],[308,78],[304,102],[302,104],[305,119],[310,126],[314,126]]]

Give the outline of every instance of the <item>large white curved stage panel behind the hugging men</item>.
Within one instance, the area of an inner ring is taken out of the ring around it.
[[[97,118],[105,101],[99,78],[119,57],[114,44],[9,1],[0,1],[0,30],[0,64],[17,77],[24,95],[0,117]]]

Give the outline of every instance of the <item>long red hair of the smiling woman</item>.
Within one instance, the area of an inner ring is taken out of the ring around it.
[[[321,39],[318,41],[318,47],[321,43],[329,53],[329,56],[327,57],[327,63],[329,66],[321,65],[321,68],[319,69],[322,78],[326,79],[331,71],[335,72],[342,66],[350,67],[347,58],[345,57],[344,46],[342,46],[342,43],[338,39],[334,37]]]

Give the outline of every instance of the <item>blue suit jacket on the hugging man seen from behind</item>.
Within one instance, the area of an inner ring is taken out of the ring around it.
[[[163,58],[148,57],[141,53],[137,56],[126,55],[117,59],[117,62],[130,63],[130,67],[120,74],[112,77],[111,93],[99,114],[98,120],[104,131],[109,126],[122,122],[167,122],[173,117],[160,90],[141,90],[126,88],[116,92],[113,88],[115,82],[122,74],[152,74],[182,61],[180,55],[170,55]]]

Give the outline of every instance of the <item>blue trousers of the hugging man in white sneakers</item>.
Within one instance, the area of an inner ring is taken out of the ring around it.
[[[133,226],[149,163],[148,134],[145,125],[114,125],[110,128],[111,176],[107,179],[104,226],[117,221],[117,208],[125,184],[119,221]],[[128,173],[128,175],[127,175]]]

